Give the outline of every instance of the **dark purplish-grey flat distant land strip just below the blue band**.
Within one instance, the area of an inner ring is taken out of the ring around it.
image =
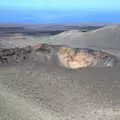
[[[22,33],[27,35],[48,36],[56,35],[66,30],[80,30],[86,32],[95,30],[103,26],[77,26],[77,25],[1,25],[0,36],[7,36],[9,34]]]

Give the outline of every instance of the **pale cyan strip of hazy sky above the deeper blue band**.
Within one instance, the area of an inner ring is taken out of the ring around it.
[[[1,0],[0,7],[31,9],[119,9],[120,0]]]

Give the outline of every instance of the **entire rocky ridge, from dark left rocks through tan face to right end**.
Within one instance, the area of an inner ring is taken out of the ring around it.
[[[37,44],[23,48],[1,48],[0,62],[2,64],[22,63],[29,58],[33,51],[42,53],[48,62],[56,60],[59,66],[68,69],[112,67],[116,64],[116,57],[103,51],[48,44]]]

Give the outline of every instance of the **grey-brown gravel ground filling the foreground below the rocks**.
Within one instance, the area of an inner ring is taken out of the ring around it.
[[[119,120],[120,67],[67,70],[41,58],[0,70],[0,120]]]

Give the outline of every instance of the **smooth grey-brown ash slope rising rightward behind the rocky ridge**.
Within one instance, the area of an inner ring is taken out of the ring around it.
[[[41,42],[44,43],[42,40]],[[88,32],[65,31],[51,36],[47,43],[75,48],[101,49],[120,58],[120,25],[107,26]]]

